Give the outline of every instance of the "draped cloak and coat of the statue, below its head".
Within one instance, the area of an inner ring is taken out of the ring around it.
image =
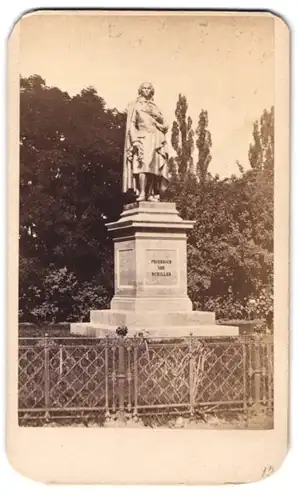
[[[159,116],[156,120],[151,113]],[[124,146],[123,192],[136,190],[135,180],[140,173],[159,176],[162,185],[168,184],[168,150],[166,124],[156,104],[140,97],[130,103],[127,112]],[[139,156],[133,149],[138,144]]]

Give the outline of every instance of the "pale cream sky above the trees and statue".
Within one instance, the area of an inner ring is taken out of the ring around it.
[[[170,125],[184,94],[194,126],[201,109],[208,111],[210,171],[237,173],[237,161],[248,168],[253,122],[274,104],[273,17],[74,11],[35,13],[20,23],[23,77],[39,74],[70,95],[94,86],[120,111],[151,81]]]

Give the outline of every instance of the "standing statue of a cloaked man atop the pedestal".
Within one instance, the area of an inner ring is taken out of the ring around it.
[[[159,201],[168,184],[168,126],[154,92],[151,83],[142,83],[138,98],[128,106],[123,192],[133,190],[136,201]]]

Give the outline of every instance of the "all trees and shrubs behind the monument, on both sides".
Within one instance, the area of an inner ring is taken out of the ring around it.
[[[21,78],[20,99],[20,320],[83,320],[113,294],[105,223],[124,202],[125,114],[93,88],[70,97],[36,75]],[[253,124],[251,167],[239,165],[239,175],[226,179],[208,170],[207,110],[193,130],[179,95],[175,116],[165,199],[196,221],[188,237],[190,297],[218,317],[271,324],[274,109]]]

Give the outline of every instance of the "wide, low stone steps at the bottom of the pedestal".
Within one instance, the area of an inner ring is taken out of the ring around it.
[[[116,336],[118,327],[126,326],[127,336],[140,333],[149,337],[185,337],[192,333],[200,337],[223,337],[239,335],[238,327],[217,325],[215,315],[210,312],[143,312],[113,311],[104,309],[91,311],[90,323],[71,324],[71,333],[90,337]]]

